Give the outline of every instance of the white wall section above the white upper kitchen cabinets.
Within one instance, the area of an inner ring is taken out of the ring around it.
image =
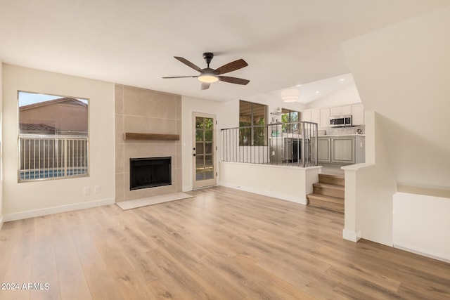
[[[311,101],[305,105],[306,110],[313,108],[324,108],[333,107],[340,105],[347,105],[353,103],[361,103],[361,98],[359,98],[358,89],[354,83],[347,84],[343,86],[342,89],[334,91],[333,93],[328,93],[327,95]]]

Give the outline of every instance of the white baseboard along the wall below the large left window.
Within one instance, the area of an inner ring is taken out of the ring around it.
[[[48,214],[58,214],[60,212],[72,211],[78,209],[89,209],[91,207],[101,207],[103,205],[114,204],[115,199],[104,199],[76,204],[62,205],[60,207],[48,207],[44,209],[34,209],[30,211],[20,211],[13,214],[4,215],[4,221],[15,221],[21,219],[34,218],[36,216],[46,216]]]

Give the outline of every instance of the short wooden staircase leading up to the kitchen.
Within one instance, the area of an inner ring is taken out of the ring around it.
[[[319,174],[319,182],[312,186],[313,193],[307,195],[308,205],[344,213],[344,176]]]

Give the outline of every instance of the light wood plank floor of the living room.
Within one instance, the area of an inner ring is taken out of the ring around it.
[[[449,299],[450,265],[342,240],[342,214],[229,188],[8,222],[0,299]],[[45,287],[44,285],[42,286]]]

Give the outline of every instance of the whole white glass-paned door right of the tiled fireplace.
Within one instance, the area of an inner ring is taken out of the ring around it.
[[[193,188],[216,184],[215,116],[193,113]]]

